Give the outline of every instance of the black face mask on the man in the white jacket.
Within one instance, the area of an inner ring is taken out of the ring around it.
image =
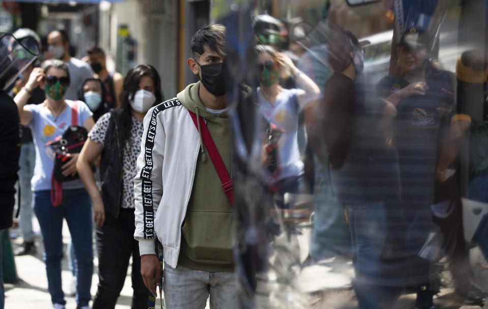
[[[229,82],[229,72],[225,63],[212,63],[206,65],[200,65],[196,60],[195,62],[200,66],[202,71],[203,87],[208,90],[214,96],[220,97],[227,93],[227,83]]]

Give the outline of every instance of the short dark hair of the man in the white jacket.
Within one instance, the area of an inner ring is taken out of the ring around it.
[[[225,26],[211,24],[197,30],[191,42],[192,52],[202,54],[205,45],[219,55],[225,56]]]

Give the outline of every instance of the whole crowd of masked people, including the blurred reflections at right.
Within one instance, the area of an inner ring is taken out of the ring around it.
[[[115,306],[131,257],[132,308],[154,307],[158,287],[167,308],[204,308],[208,297],[211,308],[273,307],[273,284],[286,291],[332,257],[352,260],[362,309],[412,292],[415,308],[436,308],[444,266],[455,296],[483,305],[469,249],[488,259],[488,59],[467,48],[455,72],[444,69],[439,32],[417,21],[395,29],[378,82],[364,73],[371,42],[325,17],[253,16],[246,80],[230,59],[233,30],[203,26],[187,60],[197,81],[178,94],[162,93],[149,64],[109,72],[97,45],[72,57],[63,30],[47,44],[30,29],[6,34],[0,228],[15,217],[15,255],[35,254],[36,215],[55,309],[66,304],[64,219],[81,309]],[[249,303],[259,295],[268,300]]]

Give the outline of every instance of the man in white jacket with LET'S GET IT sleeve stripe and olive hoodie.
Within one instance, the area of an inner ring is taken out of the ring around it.
[[[156,237],[162,244],[166,308],[203,309],[208,296],[211,308],[236,308],[233,209],[202,142],[202,128],[190,115],[205,120],[231,175],[225,27],[202,27],[191,47],[193,58],[187,64],[200,81],[144,118],[134,178],[134,236],[144,284],[155,296],[161,277]]]

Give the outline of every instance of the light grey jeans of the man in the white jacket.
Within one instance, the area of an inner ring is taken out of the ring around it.
[[[233,272],[208,272],[164,263],[164,307],[166,309],[204,309],[210,295],[210,309],[239,308],[236,275]]]

